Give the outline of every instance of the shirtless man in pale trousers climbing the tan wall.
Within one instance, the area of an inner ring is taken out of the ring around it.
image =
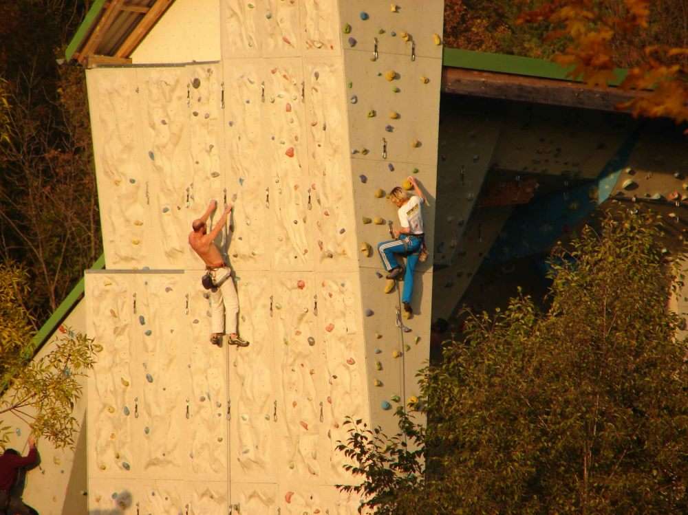
[[[217,209],[217,201],[213,200],[208,205],[203,216],[195,219],[191,224],[193,229],[189,234],[189,245],[196,254],[206,263],[206,270],[210,272],[213,285],[211,295],[211,343],[221,346],[222,338],[228,334],[230,345],[248,347],[248,342],[237,334],[237,314],[239,313],[239,298],[237,289],[232,280],[232,269],[226,265],[222,254],[215,245],[215,238],[227,222],[227,217],[232,211],[232,204],[224,209],[222,217],[217,221],[211,232],[208,232],[206,222],[208,217]]]

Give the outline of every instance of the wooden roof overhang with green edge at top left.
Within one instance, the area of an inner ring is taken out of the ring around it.
[[[67,46],[85,66],[131,63],[131,54],[174,0],[96,0]]]

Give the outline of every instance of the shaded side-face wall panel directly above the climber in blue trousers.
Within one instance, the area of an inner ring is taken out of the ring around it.
[[[382,53],[377,61],[371,61],[367,53],[349,51],[345,52],[345,67],[347,86],[351,86],[347,93],[353,157],[434,166],[440,61],[419,57],[411,62],[406,56]],[[387,80],[387,73],[394,74],[394,79]]]

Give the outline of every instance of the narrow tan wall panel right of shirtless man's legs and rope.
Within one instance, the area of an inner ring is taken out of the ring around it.
[[[239,349],[229,367],[230,476],[239,481],[277,481],[272,289],[265,274],[239,272],[237,279],[241,335],[251,346]]]

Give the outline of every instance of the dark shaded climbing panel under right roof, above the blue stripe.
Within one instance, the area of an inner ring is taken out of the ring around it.
[[[627,138],[615,113],[517,105],[505,121],[494,166],[513,171],[595,179]]]

